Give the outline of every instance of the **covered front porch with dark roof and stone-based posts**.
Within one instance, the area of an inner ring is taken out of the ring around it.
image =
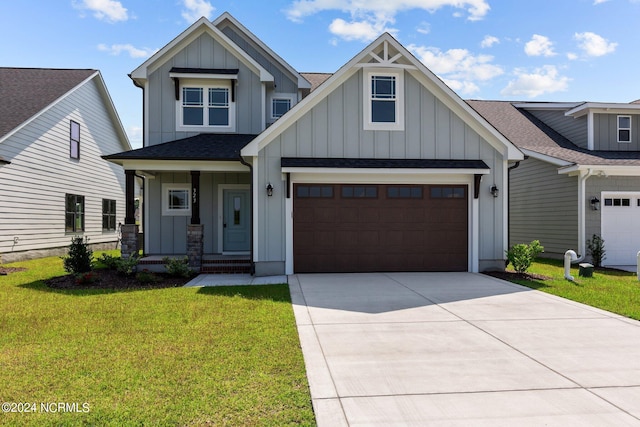
[[[253,137],[200,134],[105,156],[125,169],[122,256],[139,250],[134,187],[141,177],[142,268],[163,271],[164,258],[186,256],[197,272],[252,274],[252,166],[239,152]]]

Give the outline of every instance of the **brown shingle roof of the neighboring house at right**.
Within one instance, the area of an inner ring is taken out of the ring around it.
[[[590,151],[573,144],[533,114],[509,101],[467,103],[516,147],[577,165],[640,166],[639,151]]]

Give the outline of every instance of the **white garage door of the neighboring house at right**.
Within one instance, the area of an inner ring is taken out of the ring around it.
[[[639,200],[640,193],[602,193],[603,265],[636,265],[640,250]]]

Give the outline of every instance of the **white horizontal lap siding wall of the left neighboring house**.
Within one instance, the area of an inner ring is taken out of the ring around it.
[[[69,157],[71,120],[80,124],[79,160]],[[0,166],[0,253],[65,247],[74,235],[115,248],[117,233],[102,231],[102,199],[116,200],[124,222],[124,171],[100,156],[125,147],[94,80],[1,145],[11,164]],[[65,232],[65,194],[85,197],[84,233]]]

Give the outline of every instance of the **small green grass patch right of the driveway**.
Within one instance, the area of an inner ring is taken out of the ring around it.
[[[562,261],[538,259],[528,272],[552,279],[514,282],[640,320],[640,282],[635,273],[596,269],[593,277],[580,277],[578,271],[578,266],[572,267],[575,280],[571,282],[564,278]]]

